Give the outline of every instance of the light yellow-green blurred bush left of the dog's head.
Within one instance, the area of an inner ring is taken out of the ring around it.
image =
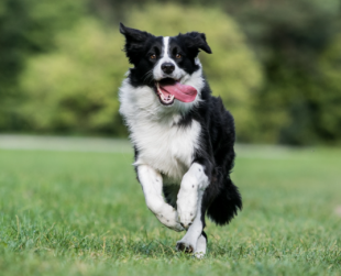
[[[59,33],[54,44],[53,53],[29,60],[21,78],[25,103],[20,112],[30,129],[125,134],[117,92],[127,63],[118,31],[87,19]]]

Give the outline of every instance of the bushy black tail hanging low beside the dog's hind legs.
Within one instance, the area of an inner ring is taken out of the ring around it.
[[[207,216],[217,224],[224,225],[237,216],[238,209],[242,210],[242,197],[237,186],[228,178],[222,190],[208,208]]]

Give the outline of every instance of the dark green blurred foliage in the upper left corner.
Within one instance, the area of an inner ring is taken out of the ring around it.
[[[0,2],[0,130],[22,128],[15,107],[18,77],[26,56],[53,49],[53,36],[79,20],[80,1],[2,0]]]

